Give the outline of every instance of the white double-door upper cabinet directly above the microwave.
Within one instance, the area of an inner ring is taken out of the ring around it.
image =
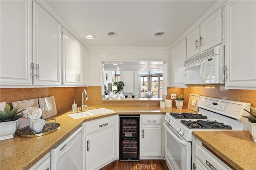
[[[186,39],[186,59],[222,43],[222,9],[203,21]]]

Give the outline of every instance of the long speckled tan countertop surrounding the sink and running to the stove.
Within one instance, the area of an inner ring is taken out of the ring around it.
[[[96,109],[101,108],[102,106],[89,107],[89,109]],[[58,113],[57,116],[53,117],[56,119],[56,123],[60,123],[60,129],[58,131],[48,135],[32,138],[22,138],[18,137],[16,134],[13,139],[0,141],[0,168],[4,170],[25,170],[30,168],[86,121],[118,114],[165,114],[166,112],[192,112],[189,109],[160,108],[159,106],[104,107],[116,112],[81,119],[72,119],[67,115],[71,112]]]

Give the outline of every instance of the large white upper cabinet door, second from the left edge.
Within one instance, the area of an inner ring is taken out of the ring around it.
[[[61,84],[60,38],[60,23],[33,1],[35,85]]]

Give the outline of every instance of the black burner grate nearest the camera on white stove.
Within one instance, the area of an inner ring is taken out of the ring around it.
[[[183,125],[188,127],[189,129],[232,129],[229,125],[224,125],[222,122],[215,121],[204,121],[204,120],[197,120],[197,121],[180,121]]]

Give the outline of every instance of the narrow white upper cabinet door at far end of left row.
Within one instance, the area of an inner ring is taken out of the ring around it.
[[[87,86],[87,49],[78,42],[78,85]]]

